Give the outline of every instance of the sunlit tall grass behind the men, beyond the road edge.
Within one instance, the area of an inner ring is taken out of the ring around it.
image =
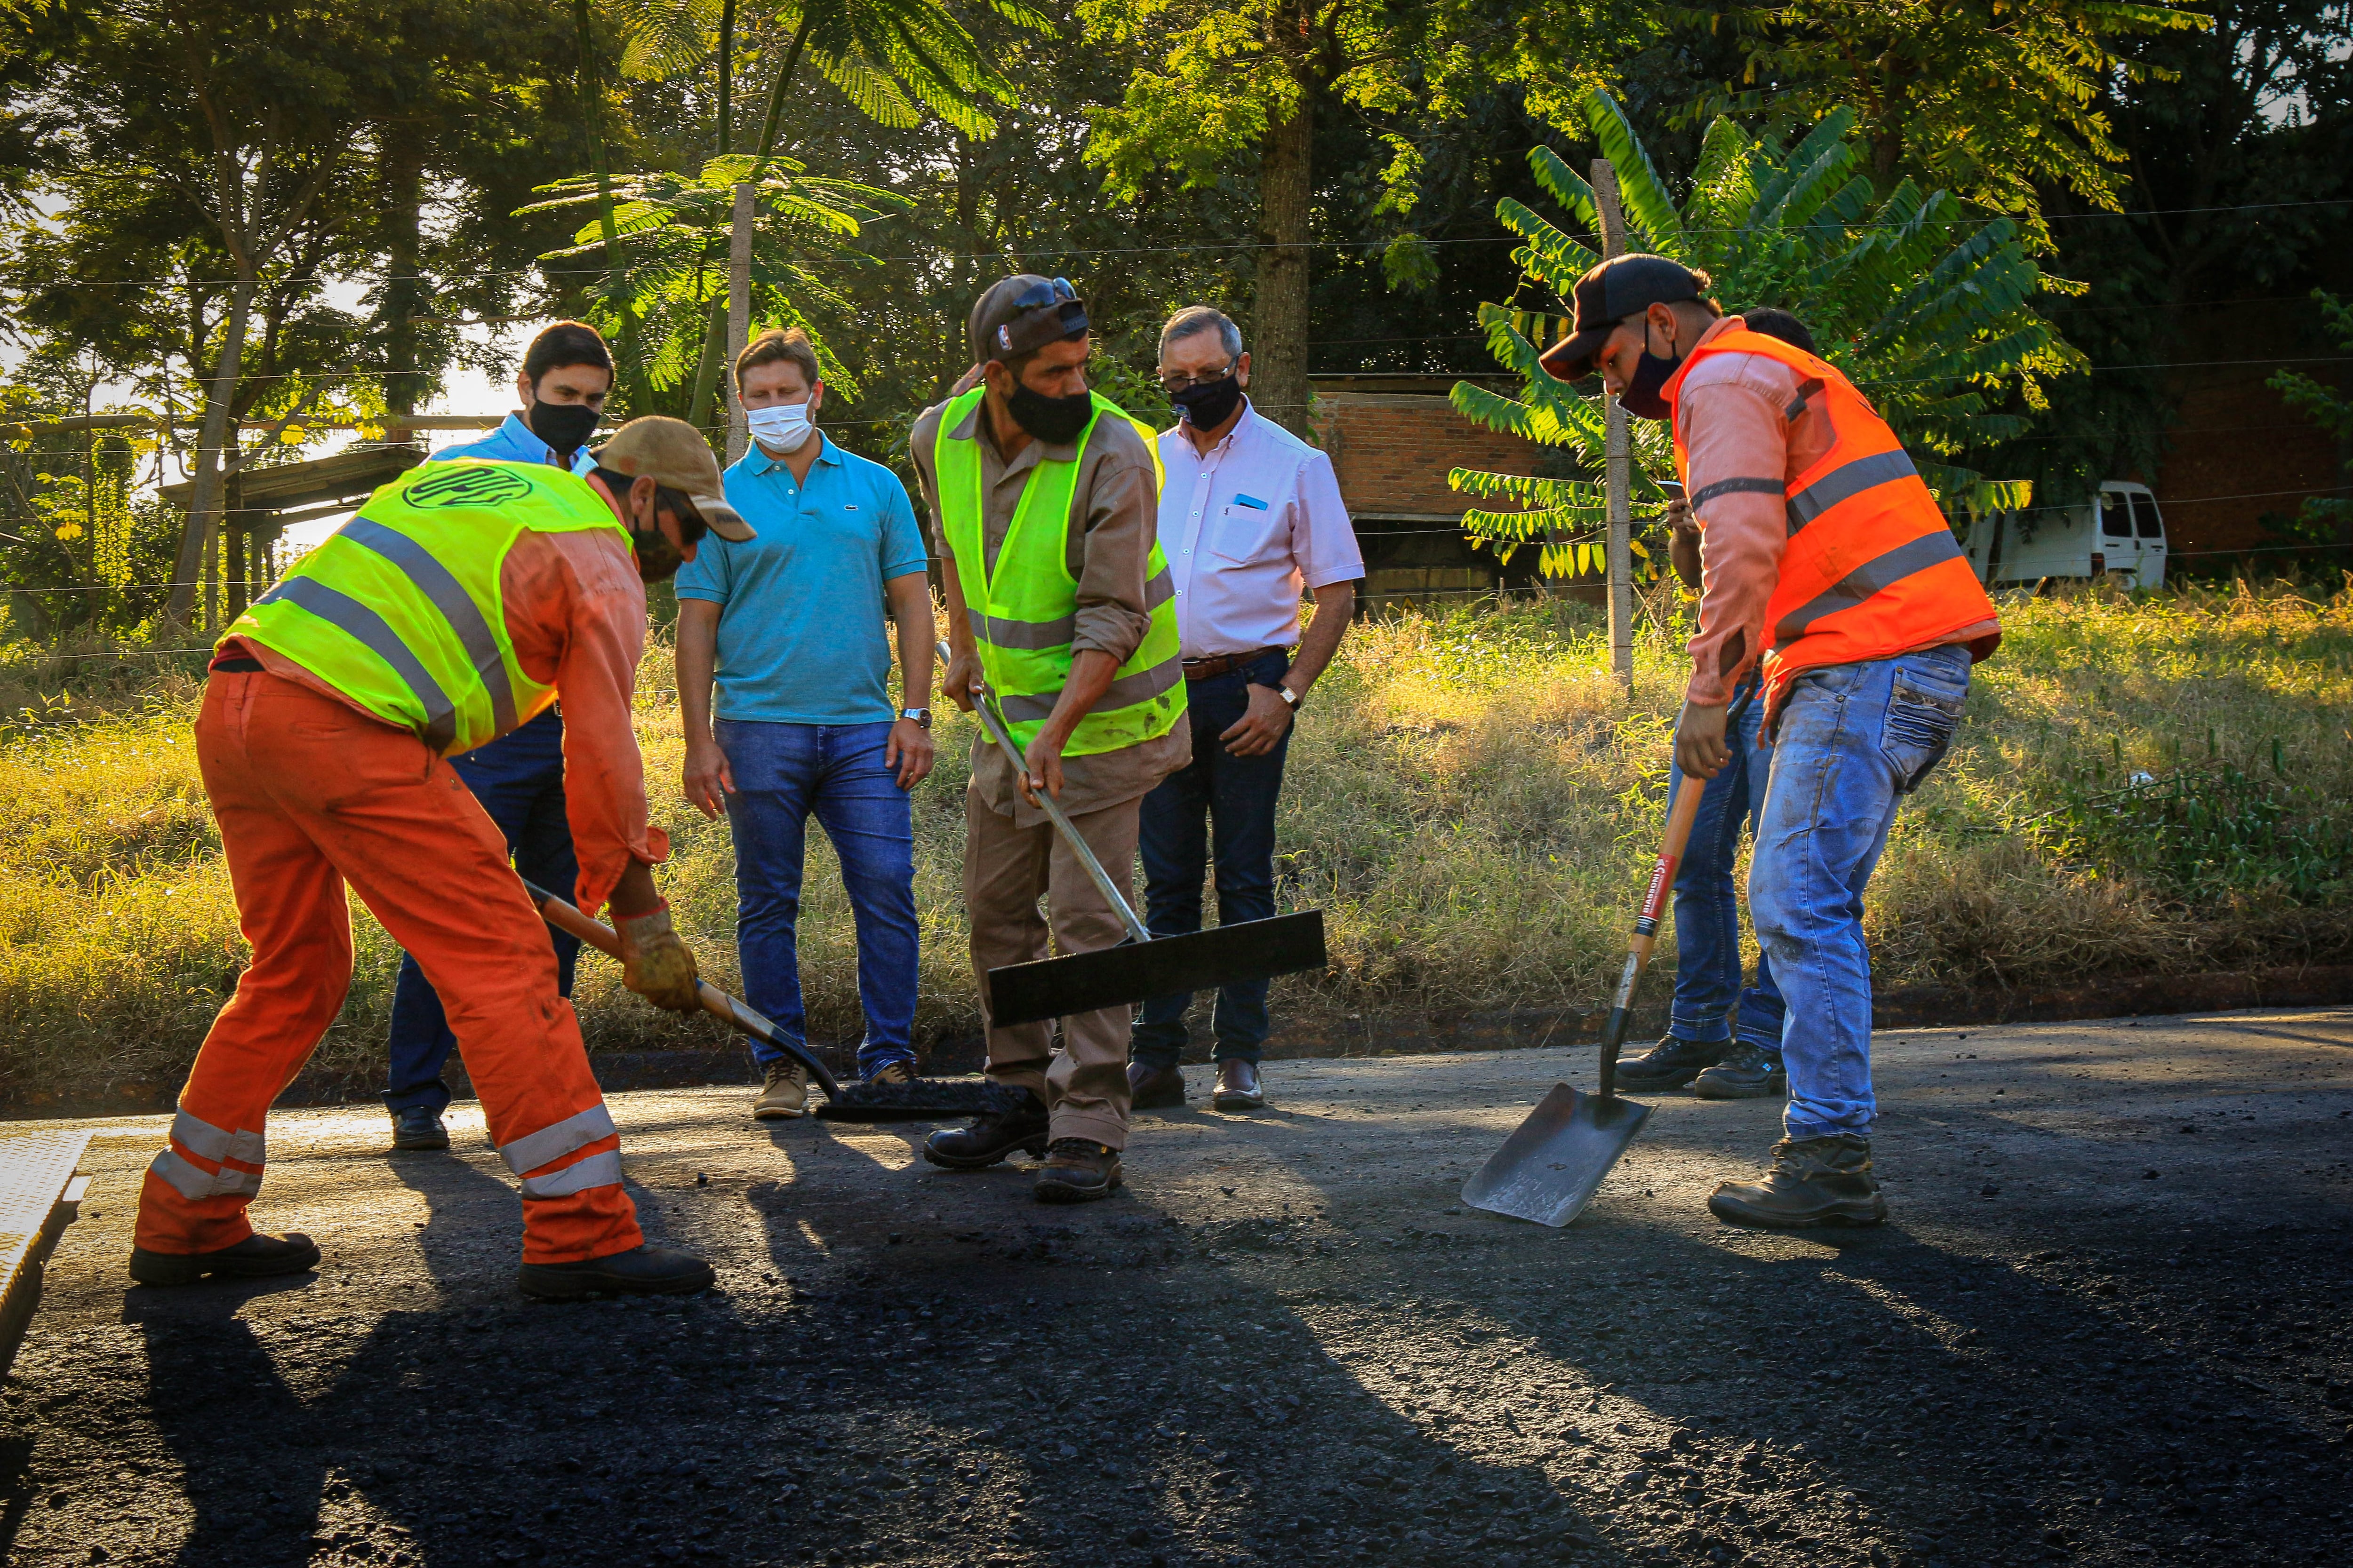
[[[2005,609],[1951,759],[1906,802],[1873,882],[1882,985],[2038,985],[2353,952],[2353,592],[2080,592]],[[1407,1009],[1595,1004],[1664,820],[1680,639],[1652,625],[1635,698],[1574,607],[1355,628],[1289,755],[1280,870],[1322,907],[1334,971],[1278,985],[1301,1025]],[[0,741],[0,1095],[169,1086],[242,961],[184,668],[75,686],[0,668],[33,708]],[[706,973],[734,987],[725,823],[678,792],[668,651],[638,731],[661,879]],[[941,724],[915,797],[925,1037],[976,1023],[958,891],[972,719]],[[322,1065],[381,1058],[398,954],[365,914]],[[1673,950],[1666,947],[1671,954]],[[812,1032],[854,1037],[856,947],[821,832],[802,905]],[[713,1039],[584,957],[593,1048]]]

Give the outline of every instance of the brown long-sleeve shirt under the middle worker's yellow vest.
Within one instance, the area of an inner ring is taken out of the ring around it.
[[[934,404],[915,418],[908,435],[915,477],[922,482],[922,501],[932,512],[934,548],[951,557],[946,536],[939,534],[939,473],[934,473],[932,449],[939,442],[939,421],[948,404]],[[986,569],[995,569],[998,550],[1012,529],[1014,510],[1021,505],[1021,489],[1042,461],[1068,463],[1073,444],[1049,444],[1033,440],[1005,461],[995,437],[981,428],[981,409],[974,404],[955,428],[951,442],[976,442],[981,451],[981,548],[988,555]],[[1153,541],[1160,536],[1160,484],[1153,454],[1144,437],[1122,418],[1094,421],[1087,437],[1087,454],[1078,465],[1078,484],[1071,491],[1071,524],[1064,541],[1064,559],[1078,581],[1078,630],[1071,651],[1089,649],[1111,654],[1127,663],[1144,635],[1153,625],[1146,602],[1151,578]],[[962,574],[960,574],[962,576]],[[967,597],[976,588],[967,583]],[[1148,795],[1153,785],[1193,759],[1193,726],[1176,724],[1169,733],[1125,745],[1115,752],[1061,759],[1061,809],[1071,816],[1101,811],[1127,799]],[[1045,813],[1021,799],[1014,788],[1014,766],[986,733],[972,745],[972,788],[998,816],[1012,816],[1016,825],[1033,827]]]

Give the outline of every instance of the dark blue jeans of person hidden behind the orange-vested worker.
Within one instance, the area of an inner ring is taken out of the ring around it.
[[[1675,1039],[1713,1046],[1732,1039],[1732,1004],[1741,1004],[1739,1039],[1765,1056],[1781,1056],[1781,992],[1772,983],[1772,961],[1758,954],[1758,983],[1741,990],[1741,905],[1732,891],[1732,865],[1741,853],[1741,825],[1755,832],[1765,809],[1765,769],[1772,752],[1758,729],[1765,703],[1753,693],[1758,677],[1741,682],[1732,701],[1751,693],[1741,712],[1741,733],[1732,743],[1732,766],[1701,785],[1699,818],[1692,842],[1675,872],[1675,1006],[1666,1032]],[[1682,790],[1682,769],[1666,780],[1668,806]]]

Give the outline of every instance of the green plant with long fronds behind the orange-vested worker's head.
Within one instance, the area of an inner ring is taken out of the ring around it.
[[[1878,195],[1854,113],[1835,110],[1798,146],[1751,136],[1718,118],[1678,205],[1626,110],[1602,89],[1579,108],[1617,169],[1628,249],[1704,268],[1729,308],[1779,306],[1795,313],[1821,346],[1904,437],[1929,489],[1948,508],[2017,508],[2031,498],[2024,480],[1986,480],[1960,456],[2019,435],[2042,407],[2042,383],[2082,369],[2082,355],[2035,313],[2042,294],[2080,284],[2047,275],[2028,254],[2017,223],[1974,216],[1948,190],[1911,181]],[[1600,230],[1593,188],[1551,148],[1534,148],[1537,183],[1584,233]],[[1497,219],[1520,247],[1520,289],[1569,299],[1600,256],[1525,202],[1504,200]],[[1551,376],[1537,357],[1569,329],[1560,306],[1480,306],[1487,348],[1520,378],[1506,397],[1454,383],[1464,416],[1541,447],[1565,447],[1577,468],[1602,470],[1600,393],[1584,395]],[[1675,477],[1666,423],[1631,421],[1635,508],[1666,501]],[[1591,480],[1544,480],[1457,468],[1457,491],[1508,501],[1518,510],[1471,510],[1464,531],[1508,557],[1541,541],[1544,576],[1600,569],[1607,524],[1602,487]],[[1638,545],[1640,548],[1640,545]]]

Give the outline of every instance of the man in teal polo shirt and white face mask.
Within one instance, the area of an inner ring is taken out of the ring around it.
[[[826,388],[807,334],[762,331],[746,343],[736,393],[753,444],[727,470],[727,503],[758,536],[720,548],[706,541],[678,574],[687,799],[708,818],[725,811],[734,832],[744,999],[802,1041],[795,924],[816,816],[859,929],[859,1072],[906,1081],[915,1070],[918,943],[908,790],[932,771],[934,623],[922,531],[889,468],[814,428]],[[896,705],[885,611],[899,628]],[[802,1070],[781,1051],[760,1056],[760,1067],[753,1117],[798,1117],[807,1105]]]

